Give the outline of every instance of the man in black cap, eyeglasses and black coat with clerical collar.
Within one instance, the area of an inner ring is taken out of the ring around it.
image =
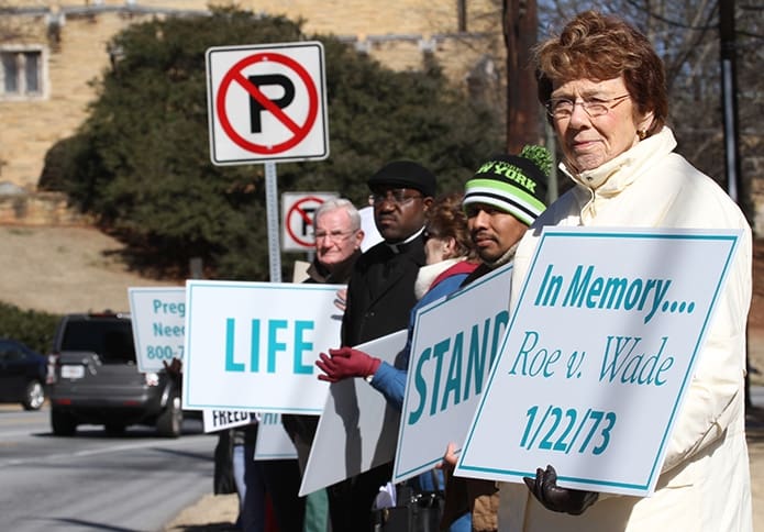
[[[408,326],[416,304],[413,285],[425,264],[424,213],[435,196],[435,176],[410,160],[385,165],[367,181],[374,222],[384,239],[355,262],[347,286],[342,345],[355,346]],[[372,375],[369,372],[367,375]],[[392,464],[331,486],[333,532],[372,529],[370,509]]]

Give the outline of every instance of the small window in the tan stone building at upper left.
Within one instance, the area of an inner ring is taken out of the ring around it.
[[[42,48],[0,48],[0,97],[30,99],[44,96]]]

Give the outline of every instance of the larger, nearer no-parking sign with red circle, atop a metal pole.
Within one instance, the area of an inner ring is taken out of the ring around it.
[[[329,156],[320,42],[209,48],[207,80],[213,164]]]

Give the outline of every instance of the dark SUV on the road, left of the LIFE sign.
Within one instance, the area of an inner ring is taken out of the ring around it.
[[[139,373],[129,314],[65,315],[48,358],[53,433],[73,435],[79,423],[102,424],[110,434],[125,426],[156,426],[180,435],[180,383],[166,372]]]

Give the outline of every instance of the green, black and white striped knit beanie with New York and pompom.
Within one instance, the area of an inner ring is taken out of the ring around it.
[[[484,203],[531,225],[546,209],[546,185],[552,155],[543,146],[527,145],[520,155],[495,155],[464,186],[464,201]]]

